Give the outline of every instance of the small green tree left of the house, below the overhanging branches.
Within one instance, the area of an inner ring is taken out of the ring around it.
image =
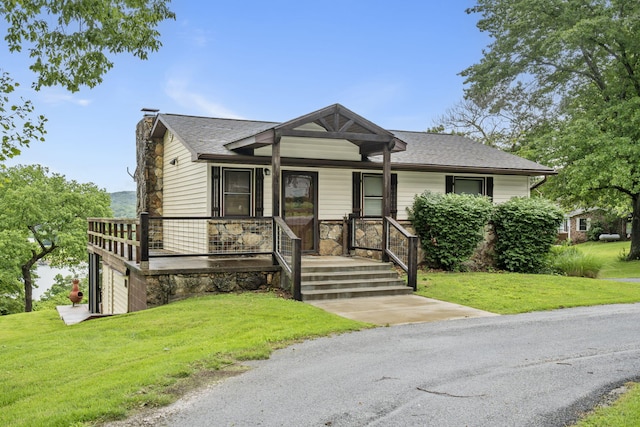
[[[22,282],[28,312],[36,263],[47,260],[56,267],[85,261],[86,219],[111,216],[111,199],[94,184],[67,181],[41,166],[8,168],[0,180],[0,248],[6,250],[0,254],[2,289],[4,298],[15,298],[15,284]]]

